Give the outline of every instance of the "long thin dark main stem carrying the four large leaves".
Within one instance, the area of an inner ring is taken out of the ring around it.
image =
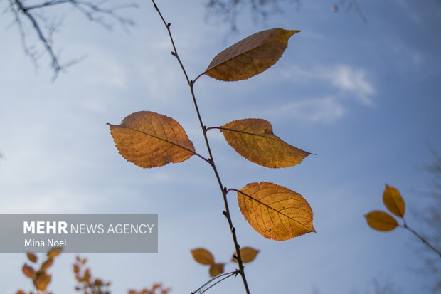
[[[216,168],[216,164],[214,163],[214,160],[213,160],[213,154],[211,153],[211,147],[210,147],[210,143],[208,142],[208,137],[207,137],[207,128],[206,128],[205,125],[203,125],[202,118],[201,118],[201,112],[199,112],[198,103],[196,102],[196,97],[194,95],[194,90],[193,90],[194,82],[193,82],[193,80],[190,80],[188,78],[188,75],[186,73],[184,65],[181,62],[181,58],[179,58],[179,54],[176,51],[176,46],[174,44],[173,37],[171,36],[171,31],[170,31],[171,24],[167,23],[165,21],[164,17],[161,14],[161,11],[159,11],[158,6],[154,2],[154,0],[152,0],[152,3],[154,5],[154,8],[156,9],[156,11],[158,12],[159,16],[161,17],[162,22],[164,23],[164,25],[167,28],[167,31],[168,31],[169,37],[170,37],[170,41],[171,41],[171,45],[173,46],[173,50],[174,50],[173,52],[171,52],[171,54],[174,57],[176,57],[176,60],[179,62],[179,65],[181,65],[181,69],[182,69],[182,71],[183,71],[183,73],[185,75],[185,78],[187,80],[188,86],[190,88],[191,98],[193,99],[193,104],[194,104],[194,107],[196,109],[196,113],[198,115],[198,120],[199,120],[199,123],[201,125],[202,132],[203,132],[203,138],[204,138],[204,140],[206,142],[206,147],[207,147],[208,154],[209,154],[208,160],[211,162],[211,167],[213,168],[213,172],[216,175],[216,179],[218,180],[219,187],[221,188],[221,192],[222,192],[222,196],[223,196],[223,202],[225,204],[225,213],[224,213],[224,215],[225,215],[226,219],[228,220],[228,225],[230,226],[231,236],[233,237],[235,251],[236,251],[236,254],[238,256],[238,265],[239,265],[238,273],[240,273],[240,276],[242,277],[243,285],[245,287],[245,292],[247,294],[250,294],[250,290],[248,289],[247,279],[245,278],[245,271],[244,271],[244,267],[243,267],[242,257],[240,256],[240,246],[238,244],[238,238],[237,238],[236,233],[235,233],[235,227],[233,226],[233,221],[231,220],[231,215],[230,215],[230,209],[228,207],[227,189],[223,187],[223,184],[222,184],[222,181],[221,181],[221,177],[219,176],[218,169]]]

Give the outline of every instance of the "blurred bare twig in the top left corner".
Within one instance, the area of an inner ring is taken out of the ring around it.
[[[14,23],[18,26],[24,52],[31,58],[31,61],[33,61],[36,67],[38,67],[38,59],[41,58],[44,53],[47,53],[51,60],[53,80],[58,77],[58,73],[60,73],[61,70],[79,61],[79,59],[76,59],[68,63],[60,63],[60,58],[54,50],[52,36],[60,26],[61,21],[50,23],[48,19],[43,17],[43,13],[49,7],[63,4],[72,6],[85,15],[90,21],[99,23],[107,29],[112,28],[111,19],[117,21],[124,27],[133,26],[134,22],[131,19],[120,16],[117,14],[117,11],[119,9],[137,7],[136,4],[124,4],[106,8],[103,6],[104,2],[96,2],[93,0],[50,0],[27,6],[23,0],[9,0],[9,11],[14,15]],[[58,19],[60,18],[58,17]],[[38,42],[43,46],[42,52],[39,52],[36,46],[28,45],[26,41],[25,20],[31,24],[33,33],[38,38]]]

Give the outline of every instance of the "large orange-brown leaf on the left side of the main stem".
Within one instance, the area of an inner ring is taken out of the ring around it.
[[[193,143],[176,120],[150,111],[132,113],[110,125],[119,154],[138,167],[184,162],[195,154]]]

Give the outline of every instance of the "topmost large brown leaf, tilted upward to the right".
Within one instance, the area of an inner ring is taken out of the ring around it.
[[[227,81],[251,78],[279,60],[294,33],[299,31],[272,28],[248,36],[219,53],[201,75]]]

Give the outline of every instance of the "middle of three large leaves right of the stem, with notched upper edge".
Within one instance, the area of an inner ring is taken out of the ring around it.
[[[223,125],[221,132],[236,152],[264,167],[292,167],[310,154],[280,140],[267,120],[233,120]]]

